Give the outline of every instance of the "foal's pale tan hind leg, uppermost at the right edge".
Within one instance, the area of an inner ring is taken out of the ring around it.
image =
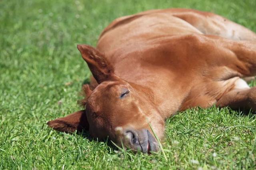
[[[254,32],[222,16],[188,9],[171,9],[170,11],[173,16],[185,20],[205,35],[215,35],[231,40],[256,41]]]

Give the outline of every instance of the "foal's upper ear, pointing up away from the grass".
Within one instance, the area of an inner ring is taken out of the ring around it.
[[[114,75],[114,67],[108,62],[104,54],[90,45],[77,45],[77,48],[98,84],[103,81],[115,81],[118,79]]]

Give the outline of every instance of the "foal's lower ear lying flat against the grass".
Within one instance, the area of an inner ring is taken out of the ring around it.
[[[49,121],[47,122],[47,125],[61,132],[89,130],[89,123],[87,121],[85,110],[77,111],[66,117]]]

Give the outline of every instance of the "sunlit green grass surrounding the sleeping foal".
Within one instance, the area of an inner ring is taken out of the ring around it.
[[[215,12],[256,32],[255,0],[1,0],[0,169],[255,169],[256,117],[227,108],[168,119],[166,158],[117,152],[108,141],[46,125],[80,109],[90,71],[76,44],[96,45],[119,16],[177,7]]]

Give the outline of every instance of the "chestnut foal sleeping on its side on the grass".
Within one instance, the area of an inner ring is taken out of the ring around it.
[[[256,110],[256,34],[209,12],[150,10],[114,20],[96,48],[78,45],[92,72],[84,110],[47,124],[89,130],[135,151],[159,150],[165,120],[192,107]]]

